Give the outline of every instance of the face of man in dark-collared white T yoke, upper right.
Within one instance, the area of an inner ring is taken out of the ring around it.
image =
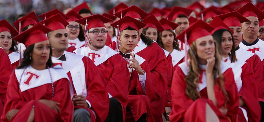
[[[248,22],[242,23],[242,31],[243,37],[249,39],[257,39],[259,26],[258,26],[258,18],[257,17],[246,17]]]

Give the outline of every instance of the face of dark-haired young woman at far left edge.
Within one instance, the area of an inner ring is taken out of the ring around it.
[[[0,33],[0,47],[8,51],[12,46],[12,37],[10,32],[3,31]]]

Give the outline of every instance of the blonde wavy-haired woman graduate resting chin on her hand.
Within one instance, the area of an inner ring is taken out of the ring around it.
[[[171,121],[236,121],[239,95],[232,68],[221,61],[209,33],[214,28],[197,21],[176,38],[187,40],[190,60],[178,65],[172,86]]]

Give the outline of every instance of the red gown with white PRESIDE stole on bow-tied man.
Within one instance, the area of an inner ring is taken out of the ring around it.
[[[109,97],[106,91],[106,81],[98,68],[86,56],[64,51],[66,61],[52,57],[56,66],[61,66],[73,85],[74,94],[86,97],[89,108],[84,108],[91,113],[92,121],[105,121],[109,112]],[[92,114],[92,113],[95,113]],[[93,116],[94,115],[94,116]]]

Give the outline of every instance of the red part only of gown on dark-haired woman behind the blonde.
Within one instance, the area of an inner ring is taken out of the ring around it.
[[[258,91],[255,84],[254,73],[252,68],[245,63],[242,66],[241,79],[243,86],[239,92],[239,95],[244,100],[245,105],[242,108],[247,110],[248,121],[260,121],[261,119],[261,108],[258,103]],[[244,114],[238,114],[238,118],[244,118]]]

